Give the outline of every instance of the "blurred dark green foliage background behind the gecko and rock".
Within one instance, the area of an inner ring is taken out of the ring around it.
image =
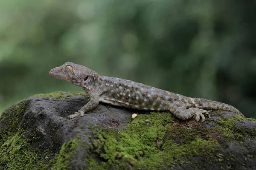
[[[1,0],[0,111],[70,61],[256,117],[255,0]]]

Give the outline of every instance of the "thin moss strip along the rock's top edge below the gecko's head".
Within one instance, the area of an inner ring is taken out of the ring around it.
[[[65,97],[70,97],[70,96],[79,96],[79,95],[88,97],[88,95],[84,92],[63,92],[63,91],[55,91],[55,92],[52,92],[52,93],[49,93],[49,94],[35,94],[31,97],[36,97],[36,98],[39,98],[39,97],[54,97],[56,99],[60,99],[60,98],[65,98]]]

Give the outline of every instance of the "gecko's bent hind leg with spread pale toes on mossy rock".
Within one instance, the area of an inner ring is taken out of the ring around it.
[[[170,112],[172,112],[172,114],[174,114],[176,117],[186,120],[191,118],[192,116],[195,116],[195,120],[198,122],[200,120],[200,118],[202,118],[201,122],[204,122],[205,120],[205,116],[204,114],[207,114],[207,116],[209,118],[209,111],[206,111],[204,109],[200,109],[200,108],[186,108],[186,106],[182,103],[182,102],[173,102],[170,105]]]

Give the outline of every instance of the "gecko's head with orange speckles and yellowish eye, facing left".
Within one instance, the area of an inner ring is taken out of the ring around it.
[[[73,62],[65,62],[60,67],[53,68],[49,75],[55,79],[65,82],[72,82],[81,87],[90,82],[90,77],[95,77],[97,73],[83,65],[74,64]]]

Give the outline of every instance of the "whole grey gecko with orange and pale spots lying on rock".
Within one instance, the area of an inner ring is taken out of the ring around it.
[[[205,119],[204,114],[210,118],[211,110],[231,111],[244,116],[233,106],[221,102],[191,98],[131,80],[100,76],[90,68],[72,62],[53,68],[49,75],[83,88],[90,96],[90,102],[70,115],[70,119],[83,116],[99,102],[140,110],[170,111],[180,119],[186,120],[195,116],[196,121],[201,118],[202,122]]]

